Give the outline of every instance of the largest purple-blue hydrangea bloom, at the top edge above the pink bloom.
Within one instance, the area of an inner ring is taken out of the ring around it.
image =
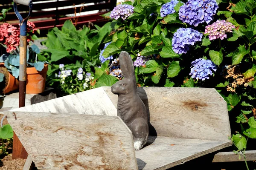
[[[218,5],[216,0],[188,0],[180,7],[179,17],[183,23],[198,26],[199,23],[212,21],[212,16],[216,14]]]

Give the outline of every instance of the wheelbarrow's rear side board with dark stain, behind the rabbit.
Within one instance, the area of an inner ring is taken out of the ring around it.
[[[118,96],[103,88],[116,106]],[[230,142],[227,103],[215,89],[140,87],[137,92],[158,136]]]

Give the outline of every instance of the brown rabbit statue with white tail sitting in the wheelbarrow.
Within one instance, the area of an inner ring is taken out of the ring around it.
[[[148,138],[148,114],[145,104],[137,94],[134,65],[128,52],[120,53],[119,63],[124,79],[113,84],[111,92],[118,95],[117,115],[130,128],[135,150],[140,150]]]

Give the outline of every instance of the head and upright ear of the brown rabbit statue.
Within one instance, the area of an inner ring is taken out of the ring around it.
[[[119,55],[120,68],[124,79],[111,86],[111,92],[114,94],[128,94],[137,92],[137,83],[134,73],[134,64],[128,52],[122,51]]]

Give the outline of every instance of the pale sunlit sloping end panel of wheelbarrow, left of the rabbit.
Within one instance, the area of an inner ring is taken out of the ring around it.
[[[67,95],[14,110],[116,116],[116,108],[102,88]]]

